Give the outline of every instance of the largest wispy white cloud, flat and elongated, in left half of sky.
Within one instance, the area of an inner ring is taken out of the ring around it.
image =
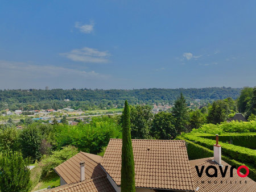
[[[90,62],[90,63],[106,63],[110,53],[108,51],[98,51],[97,49],[84,47],[81,49],[73,49],[67,53],[60,53],[73,61]]]

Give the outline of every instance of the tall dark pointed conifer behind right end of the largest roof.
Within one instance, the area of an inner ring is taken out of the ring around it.
[[[187,110],[186,100],[183,94],[175,101],[172,115],[175,118],[175,128],[177,133],[186,132],[189,124],[189,114]]]

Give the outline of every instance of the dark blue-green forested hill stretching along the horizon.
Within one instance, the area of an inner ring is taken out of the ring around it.
[[[90,89],[52,89],[52,90],[1,90],[0,102],[3,103],[34,103],[47,101],[89,101],[99,102],[102,99],[108,101],[123,101],[127,99],[131,103],[136,102],[173,102],[182,92],[186,99],[224,99],[232,97],[236,99],[240,95],[241,88],[209,87],[202,89],[133,89],[133,90],[90,90]]]

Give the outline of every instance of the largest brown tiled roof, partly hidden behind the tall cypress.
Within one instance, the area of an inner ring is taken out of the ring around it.
[[[136,187],[193,190],[185,141],[133,139],[132,144]],[[121,155],[122,139],[110,139],[101,165],[118,186]]]

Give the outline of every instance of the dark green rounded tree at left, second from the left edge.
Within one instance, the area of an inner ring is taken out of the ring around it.
[[[24,157],[31,157],[32,160],[39,160],[42,156],[40,145],[42,143],[42,132],[36,126],[26,127],[19,136],[19,143]]]

